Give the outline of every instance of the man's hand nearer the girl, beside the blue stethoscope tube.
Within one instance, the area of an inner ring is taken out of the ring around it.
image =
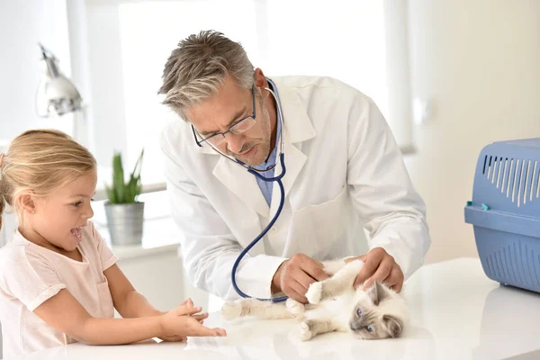
[[[319,261],[296,254],[278,267],[272,279],[272,293],[284,292],[297,302],[307,303],[304,296],[311,284],[329,278]]]

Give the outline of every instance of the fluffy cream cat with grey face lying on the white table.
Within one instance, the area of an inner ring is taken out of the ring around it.
[[[350,332],[355,338],[397,338],[409,320],[409,307],[401,294],[375,282],[366,291],[353,284],[364,262],[343,260],[323,262],[329,279],[310,285],[307,304],[289,298],[284,303],[240,299],[225,302],[221,316],[225,320],[255,316],[259,319],[300,320],[303,341],[331,331]]]

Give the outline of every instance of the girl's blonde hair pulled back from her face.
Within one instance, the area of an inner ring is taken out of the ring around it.
[[[20,223],[25,194],[47,196],[97,168],[94,156],[66,133],[28,130],[16,137],[0,161],[0,229],[5,202],[14,208]]]

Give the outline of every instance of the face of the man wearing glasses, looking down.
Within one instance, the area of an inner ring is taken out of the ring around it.
[[[251,90],[238,87],[228,76],[220,86],[219,93],[193,106],[187,112],[187,117],[195,130],[201,134],[202,139],[206,139],[217,132],[229,130],[230,126],[236,124],[238,120],[253,114],[252,94]],[[255,90],[255,106],[257,108],[255,125],[241,134],[228,132],[225,135],[226,141],[217,147],[220,152],[236,157],[251,166],[257,166],[266,161],[270,154],[272,136],[270,114],[257,89]],[[210,144],[204,142],[203,146],[210,146]]]

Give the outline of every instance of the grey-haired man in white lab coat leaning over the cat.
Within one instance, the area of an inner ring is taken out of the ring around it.
[[[365,94],[329,77],[267,78],[216,31],[178,44],[159,94],[183,118],[163,132],[161,148],[172,217],[184,232],[184,267],[197,287],[238,298],[233,264],[281,198],[277,184],[238,162],[259,169],[277,163],[262,174],[280,175],[282,136],[283,211],[240,262],[242,292],[307,302],[310,284],[327,277],[320,261],[344,257],[365,261],[355,286],[383,281],[399,292],[422,265],[430,244],[425,205]]]

